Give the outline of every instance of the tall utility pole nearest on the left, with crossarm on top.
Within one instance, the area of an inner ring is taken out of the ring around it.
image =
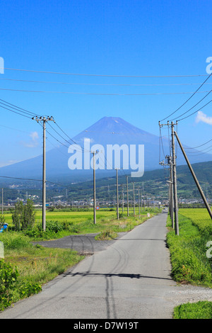
[[[54,121],[51,117],[33,117],[37,123],[42,122],[43,130],[43,150],[42,150],[42,229],[46,230],[46,123],[48,121]]]

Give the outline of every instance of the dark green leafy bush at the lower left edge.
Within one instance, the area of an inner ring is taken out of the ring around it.
[[[0,310],[4,310],[13,302],[13,289],[16,286],[18,270],[13,269],[11,264],[0,260]]]

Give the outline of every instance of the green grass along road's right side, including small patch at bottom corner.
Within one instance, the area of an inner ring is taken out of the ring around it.
[[[200,212],[201,210],[201,212]],[[172,278],[178,283],[191,283],[195,286],[212,288],[211,264],[206,256],[206,244],[212,239],[211,228],[206,228],[206,220],[199,218],[204,210],[179,210],[179,236],[172,230],[168,216],[167,246],[170,249]],[[198,218],[194,218],[198,216]],[[211,221],[207,221],[210,226]],[[208,319],[212,313],[211,302],[187,303],[175,307],[175,319]],[[209,316],[209,317],[208,317]]]

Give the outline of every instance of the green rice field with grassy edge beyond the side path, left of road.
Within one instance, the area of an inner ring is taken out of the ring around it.
[[[96,211],[96,223],[93,222],[93,208],[90,209],[54,209],[46,211],[46,230],[42,232],[42,210],[36,210],[35,226],[33,230],[27,230],[25,235],[42,239],[59,238],[67,235],[76,234],[89,234],[100,232],[122,232],[133,229],[136,225],[144,222],[153,215],[159,213],[158,208],[146,208],[145,211],[140,212],[136,208],[129,210],[127,216],[126,208],[122,213],[122,208],[119,209],[119,220],[117,220],[117,212],[115,208],[100,208]],[[147,214],[150,213],[148,217]],[[5,222],[8,223],[8,229],[13,228],[12,213],[5,212]],[[53,233],[52,233],[53,232]]]

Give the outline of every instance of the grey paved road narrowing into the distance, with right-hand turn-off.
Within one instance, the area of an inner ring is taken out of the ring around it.
[[[87,256],[41,293],[1,312],[0,319],[168,319],[179,303],[212,300],[211,289],[172,281],[166,218],[155,216]]]

